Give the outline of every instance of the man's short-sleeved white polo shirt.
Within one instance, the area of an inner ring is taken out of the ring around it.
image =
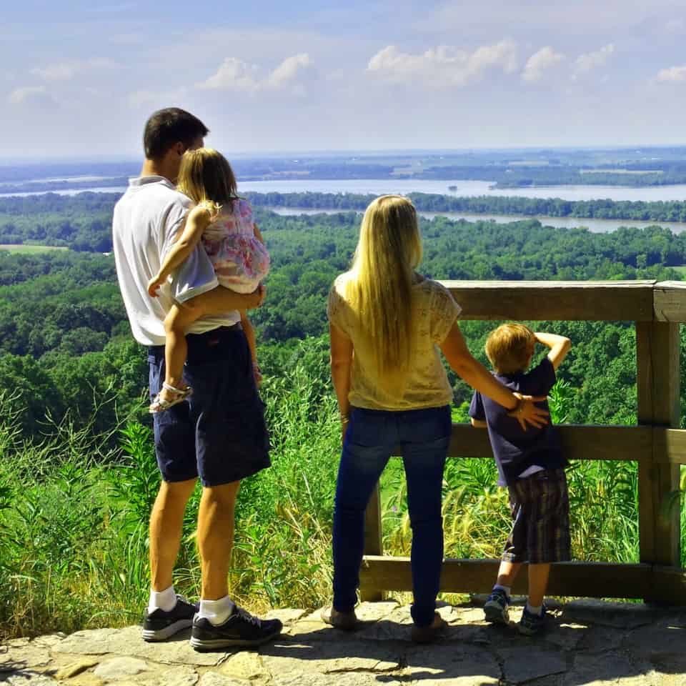
[[[159,289],[158,297],[148,294],[148,282],[159,272],[191,204],[169,179],[140,177],[129,181],[129,188],[114,206],[112,234],[119,289],[131,332],[144,345],[164,345],[164,317],[174,301],[186,302],[218,285],[212,262],[198,244],[172,282]],[[202,334],[239,321],[236,311],[202,317],[188,332]]]

